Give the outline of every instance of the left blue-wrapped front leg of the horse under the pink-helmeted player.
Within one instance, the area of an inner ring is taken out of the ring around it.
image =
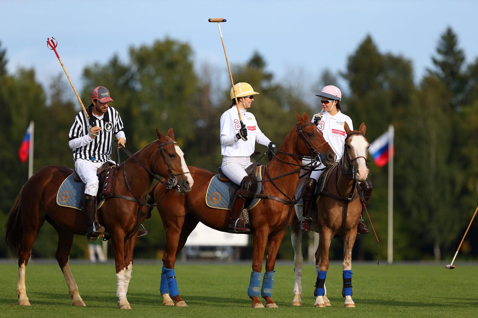
[[[321,237],[317,251],[315,252],[315,272],[317,273],[317,280],[315,282],[314,307],[331,306],[330,301],[326,296],[326,276],[329,266],[328,250],[330,241],[332,240],[332,232],[329,228],[322,227]]]

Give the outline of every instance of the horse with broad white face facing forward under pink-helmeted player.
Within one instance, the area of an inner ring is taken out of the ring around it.
[[[314,222],[314,231],[320,234],[319,245],[315,252],[315,271],[317,281],[314,296],[315,307],[331,306],[326,295],[325,279],[329,266],[328,250],[330,241],[335,235],[340,235],[344,240],[344,262],[342,297],[345,297],[345,307],[355,307],[352,300],[352,248],[357,237],[357,224],[359,223],[362,204],[357,194],[357,182],[367,179],[367,153],[369,142],[365,138],[365,124],[359,130],[350,131],[347,123],[344,125],[347,137],[345,138],[345,151],[340,161],[328,170],[324,188],[319,192],[320,197],[316,209],[309,210]],[[325,174],[325,173],[324,173]],[[299,188],[299,187],[297,187]],[[314,210],[314,211],[312,211]],[[295,283],[293,287],[293,306],[301,306],[302,301],[302,232],[300,222],[302,219],[302,206],[295,206],[296,218],[290,224],[292,246],[294,249]]]

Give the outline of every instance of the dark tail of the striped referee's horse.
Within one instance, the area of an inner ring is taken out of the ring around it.
[[[17,195],[15,203],[8,214],[5,222],[5,242],[10,247],[13,256],[18,256],[18,251],[22,245],[23,227],[22,227],[22,190]]]

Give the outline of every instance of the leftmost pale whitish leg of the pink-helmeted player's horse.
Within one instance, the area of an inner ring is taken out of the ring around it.
[[[302,210],[301,210],[302,212]],[[302,265],[304,264],[304,256],[302,255],[302,231],[300,230],[300,222],[296,217],[293,218],[291,224],[291,241],[294,249],[294,287],[292,306],[302,306]]]

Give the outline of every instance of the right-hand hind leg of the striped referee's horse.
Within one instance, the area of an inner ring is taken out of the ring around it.
[[[86,306],[81,299],[81,296],[78,292],[78,286],[76,285],[75,278],[71,274],[70,270],[70,250],[71,245],[73,244],[74,234],[67,232],[58,225],[56,225],[51,219],[47,220],[48,223],[52,224],[56,232],[58,233],[58,247],[56,248],[56,260],[58,265],[61,268],[63,276],[65,277],[66,285],[68,285],[68,292],[70,297],[73,299],[72,306]]]

